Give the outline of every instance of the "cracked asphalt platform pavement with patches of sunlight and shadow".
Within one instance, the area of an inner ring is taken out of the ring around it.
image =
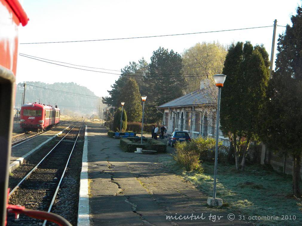
[[[87,124],[90,225],[247,225],[208,208],[205,194],[159,163],[167,153],[123,152],[98,125]],[[204,219],[166,219],[192,214]],[[222,217],[213,222],[210,214]]]

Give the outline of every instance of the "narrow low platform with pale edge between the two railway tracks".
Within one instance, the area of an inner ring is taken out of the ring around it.
[[[24,159],[28,159],[33,153],[43,147],[43,145],[46,145],[49,141],[61,134],[67,128],[68,125],[64,123],[50,131],[12,146],[9,171],[13,172],[23,163]]]

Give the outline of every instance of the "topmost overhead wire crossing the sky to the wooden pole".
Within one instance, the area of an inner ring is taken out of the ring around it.
[[[264,27],[272,27],[272,26],[273,26],[273,25],[271,25],[271,26],[260,26],[260,27],[239,28],[239,29],[228,29],[228,30],[219,30],[219,31],[204,31],[204,32],[194,32],[194,33],[172,34],[172,35],[153,35],[153,36],[141,36],[141,37],[130,37],[130,38],[95,39],[95,40],[62,41],[62,42],[28,42],[28,43],[20,43],[20,44],[47,44],[47,43],[66,43],[66,42],[109,41],[109,40],[122,40],[122,39],[142,39],[142,38],[155,38],[155,37],[165,37],[165,36],[178,36],[178,35],[204,34],[204,33],[214,33],[214,32],[223,32],[223,31],[237,31],[237,30],[246,30],[246,29],[264,28]]]

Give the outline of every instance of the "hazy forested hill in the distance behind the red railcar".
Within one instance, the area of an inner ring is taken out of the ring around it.
[[[93,112],[98,115],[99,102],[91,90],[85,86],[73,82],[56,82],[47,84],[44,82],[26,82],[25,103],[39,102],[58,107],[63,114],[90,115]],[[23,83],[17,85],[15,107],[20,108],[23,93]],[[101,112],[105,108],[100,104]]]

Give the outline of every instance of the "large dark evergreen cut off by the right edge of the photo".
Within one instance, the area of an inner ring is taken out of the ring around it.
[[[279,36],[275,73],[262,110],[261,139],[274,152],[293,158],[293,194],[300,197],[302,156],[302,7]]]

